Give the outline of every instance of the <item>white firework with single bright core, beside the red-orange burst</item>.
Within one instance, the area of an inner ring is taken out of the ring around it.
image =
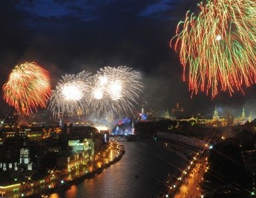
[[[50,110],[54,117],[82,116],[89,111],[88,77],[90,73],[82,71],[78,75],[64,75],[50,97]]]

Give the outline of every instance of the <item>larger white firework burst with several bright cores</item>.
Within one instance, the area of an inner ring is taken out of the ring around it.
[[[90,79],[90,106],[96,114],[132,112],[142,92],[141,74],[129,67],[104,67]]]

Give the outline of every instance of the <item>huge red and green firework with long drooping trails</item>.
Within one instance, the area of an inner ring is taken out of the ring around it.
[[[192,94],[243,92],[256,81],[256,1],[212,0],[199,7],[198,15],[187,13],[170,42],[180,55],[183,80],[188,73]]]

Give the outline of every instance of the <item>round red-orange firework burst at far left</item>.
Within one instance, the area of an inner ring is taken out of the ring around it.
[[[4,98],[18,113],[29,115],[38,106],[45,108],[50,89],[48,71],[36,63],[17,65],[3,85]]]

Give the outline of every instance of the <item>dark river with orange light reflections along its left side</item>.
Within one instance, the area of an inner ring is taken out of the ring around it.
[[[158,143],[119,142],[125,154],[119,162],[101,174],[68,191],[50,195],[56,197],[157,197],[164,189],[168,174],[176,176],[186,159],[164,149]]]

